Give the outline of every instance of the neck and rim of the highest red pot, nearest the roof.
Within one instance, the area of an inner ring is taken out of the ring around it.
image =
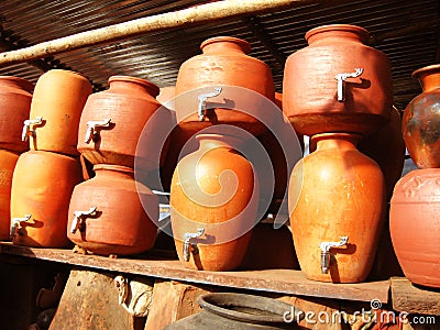
[[[330,24],[315,28],[306,33],[309,45],[333,42],[355,42],[366,44],[370,33],[365,29],[350,24]]]

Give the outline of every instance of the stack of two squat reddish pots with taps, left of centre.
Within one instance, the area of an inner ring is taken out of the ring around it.
[[[161,132],[170,112],[156,100],[154,84],[112,76],[109,89],[89,96],[77,147],[95,176],[72,195],[68,238],[97,254],[136,254],[154,244],[158,198],[144,184],[161,165],[167,145]]]

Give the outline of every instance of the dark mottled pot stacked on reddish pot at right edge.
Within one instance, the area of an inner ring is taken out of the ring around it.
[[[440,65],[413,73],[422,88],[406,107],[402,132],[419,169],[394,189],[389,210],[393,246],[406,277],[440,288]]]

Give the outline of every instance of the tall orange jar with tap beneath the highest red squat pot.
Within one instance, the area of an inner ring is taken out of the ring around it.
[[[356,150],[360,138],[312,136],[317,151],[292,173],[290,227],[310,279],[358,283],[372,267],[385,219],[385,182],[378,165]]]

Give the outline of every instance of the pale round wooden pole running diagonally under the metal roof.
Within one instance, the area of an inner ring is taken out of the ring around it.
[[[339,0],[340,2],[341,0]],[[328,0],[223,0],[195,6],[184,10],[141,18],[124,23],[90,30],[43,42],[30,47],[0,54],[0,65],[33,61],[86,46],[132,37],[150,32],[183,29],[221,19],[261,14],[309,3],[338,2]]]

